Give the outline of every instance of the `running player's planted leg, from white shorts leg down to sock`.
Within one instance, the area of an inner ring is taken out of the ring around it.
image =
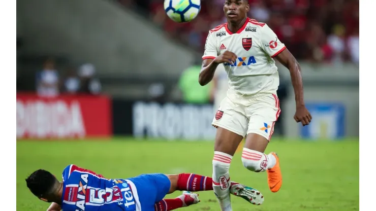
[[[222,210],[232,210],[229,168],[233,155],[246,134],[248,119],[241,104],[226,97],[212,122],[217,128],[213,157],[213,190]]]

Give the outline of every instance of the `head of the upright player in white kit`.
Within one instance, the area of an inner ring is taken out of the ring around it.
[[[223,11],[228,21],[239,22],[247,17],[249,12],[248,0],[225,0]]]

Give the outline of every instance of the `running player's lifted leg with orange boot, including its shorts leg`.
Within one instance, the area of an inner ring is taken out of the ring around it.
[[[279,159],[275,153],[266,155],[264,151],[280,113],[278,98],[276,95],[264,95],[257,99],[246,112],[250,115],[241,158],[243,165],[254,172],[267,171],[269,188],[272,192],[277,192],[282,185]]]

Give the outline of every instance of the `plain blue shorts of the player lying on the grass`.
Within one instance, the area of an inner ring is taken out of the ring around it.
[[[154,204],[168,194],[171,182],[165,174],[141,174],[127,180],[132,181],[137,189],[142,211],[154,211]]]

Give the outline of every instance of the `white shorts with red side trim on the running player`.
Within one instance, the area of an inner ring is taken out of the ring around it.
[[[279,114],[279,100],[276,94],[241,96],[229,90],[211,124],[243,137],[249,133],[256,133],[269,141]]]

